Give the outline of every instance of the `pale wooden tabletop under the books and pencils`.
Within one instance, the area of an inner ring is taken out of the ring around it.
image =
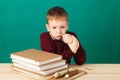
[[[120,64],[84,64],[82,66],[70,65],[70,67],[87,72],[87,74],[80,76],[75,80],[120,80]],[[0,80],[34,79],[14,73],[10,63],[1,63]]]

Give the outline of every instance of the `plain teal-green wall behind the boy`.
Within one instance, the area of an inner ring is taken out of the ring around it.
[[[39,35],[53,6],[67,10],[86,63],[120,63],[120,0],[0,0],[0,63],[11,62],[10,53],[41,49]]]

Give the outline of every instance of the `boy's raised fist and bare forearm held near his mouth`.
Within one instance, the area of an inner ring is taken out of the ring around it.
[[[77,52],[79,48],[79,41],[75,36],[70,34],[64,34],[63,41],[68,44],[73,53]]]

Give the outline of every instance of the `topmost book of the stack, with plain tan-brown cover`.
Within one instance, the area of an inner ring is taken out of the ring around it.
[[[62,56],[59,54],[36,49],[28,49],[20,52],[11,53],[10,57],[21,62],[38,66],[62,59]]]

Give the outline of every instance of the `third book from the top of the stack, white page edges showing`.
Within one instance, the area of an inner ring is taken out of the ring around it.
[[[48,69],[48,70],[36,71],[36,70],[30,69],[30,68],[27,68],[23,65],[17,64],[17,63],[13,63],[13,66],[15,66],[17,68],[27,70],[27,71],[31,71],[31,72],[34,72],[34,73],[37,73],[37,74],[41,74],[41,75],[49,75],[49,74],[52,74],[54,72],[57,72],[57,71],[68,68],[68,64],[65,64],[65,65],[55,67],[55,68],[52,68],[52,69]]]

